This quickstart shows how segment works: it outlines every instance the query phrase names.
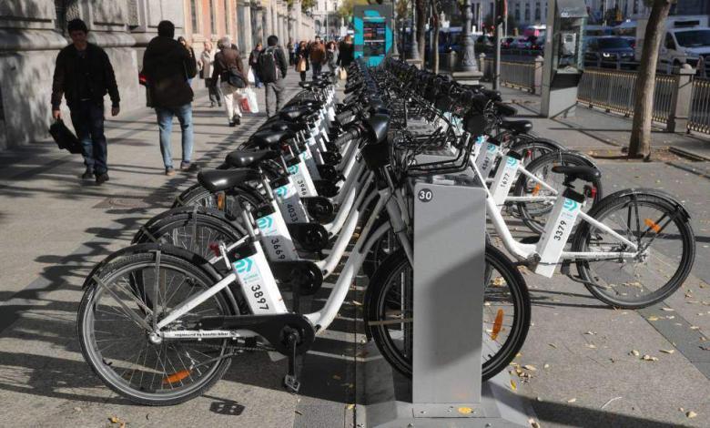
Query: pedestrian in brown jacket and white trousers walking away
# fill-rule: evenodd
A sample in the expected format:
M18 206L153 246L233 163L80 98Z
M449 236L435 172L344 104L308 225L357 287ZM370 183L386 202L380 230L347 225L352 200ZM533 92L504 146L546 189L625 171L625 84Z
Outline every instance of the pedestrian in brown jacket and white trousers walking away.
M241 123L239 102L242 89L247 87L247 73L244 71L237 46L232 45L228 36L220 38L217 46L220 50L215 56L212 79L215 82L219 79L228 123L230 127L235 127Z

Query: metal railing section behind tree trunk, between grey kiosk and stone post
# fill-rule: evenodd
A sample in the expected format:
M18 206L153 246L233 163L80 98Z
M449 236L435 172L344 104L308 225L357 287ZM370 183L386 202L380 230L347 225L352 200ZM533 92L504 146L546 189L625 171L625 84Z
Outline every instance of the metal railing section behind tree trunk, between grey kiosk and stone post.
M587 68L579 84L577 99L592 107L602 107L625 116L634 114L634 71ZM654 120L668 122L673 109L676 76L655 76Z

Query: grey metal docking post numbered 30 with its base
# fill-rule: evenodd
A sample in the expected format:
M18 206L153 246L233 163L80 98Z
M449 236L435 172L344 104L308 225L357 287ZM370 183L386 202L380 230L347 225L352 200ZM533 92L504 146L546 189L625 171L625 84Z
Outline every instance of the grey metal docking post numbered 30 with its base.
M529 426L527 406L512 392L507 371L482 382L486 225L482 184L460 173L411 179L410 191L411 299L416 312L412 379L391 370L378 358L373 343L364 345L366 352L361 353L367 357L358 369L358 384L364 385L358 403L364 405L358 406L358 426Z

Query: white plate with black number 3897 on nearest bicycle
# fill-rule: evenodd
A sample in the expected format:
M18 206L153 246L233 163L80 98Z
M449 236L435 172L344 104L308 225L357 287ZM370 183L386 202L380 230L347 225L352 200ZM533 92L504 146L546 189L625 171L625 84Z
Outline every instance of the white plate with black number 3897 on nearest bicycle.
M286 305L269 268L269 261L259 242L255 242L254 246L257 249L254 254L234 262L234 270L237 271L249 308L255 315L286 312Z

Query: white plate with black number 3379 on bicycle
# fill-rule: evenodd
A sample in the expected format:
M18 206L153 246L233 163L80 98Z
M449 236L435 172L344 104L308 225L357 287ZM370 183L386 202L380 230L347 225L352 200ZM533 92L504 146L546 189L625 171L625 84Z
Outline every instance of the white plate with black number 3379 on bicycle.
M567 192L565 191L565 194ZM535 273L551 278L560 256L564 250L564 244L570 237L574 221L577 219L582 202L574 199L559 196L554 201L553 211L547 218L547 224L543 231L543 236L537 244L537 252L540 254L540 262L535 267Z

